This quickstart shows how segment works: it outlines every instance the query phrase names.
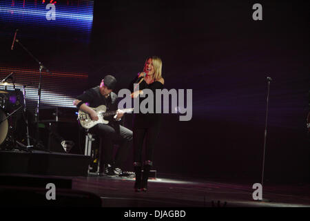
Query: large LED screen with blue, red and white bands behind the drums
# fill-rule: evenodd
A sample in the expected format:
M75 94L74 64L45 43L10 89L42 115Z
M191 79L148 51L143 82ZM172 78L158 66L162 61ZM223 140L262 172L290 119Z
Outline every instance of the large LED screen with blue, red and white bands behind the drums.
M0 79L14 71L15 83L27 86L26 104L31 113L37 106L39 64L23 47L50 70L50 73L42 71L41 106L74 108L74 97L81 93L81 88L87 87L92 22L79 18L85 16L85 11L92 17L93 1L58 1L55 7L59 14L55 21L45 19L48 3L50 1L0 1L0 8L4 9L0 13ZM6 12L11 7L12 12ZM32 15L34 12L36 16ZM63 14L74 15L75 19L63 19ZM23 47L15 42L11 50L16 30L16 38Z

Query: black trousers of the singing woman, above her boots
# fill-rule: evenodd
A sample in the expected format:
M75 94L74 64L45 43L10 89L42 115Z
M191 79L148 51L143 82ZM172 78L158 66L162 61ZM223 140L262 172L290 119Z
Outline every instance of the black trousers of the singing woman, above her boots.
M153 151L156 145L160 125L149 128L134 128L134 162L142 163L143 141L145 139L145 160L153 161Z

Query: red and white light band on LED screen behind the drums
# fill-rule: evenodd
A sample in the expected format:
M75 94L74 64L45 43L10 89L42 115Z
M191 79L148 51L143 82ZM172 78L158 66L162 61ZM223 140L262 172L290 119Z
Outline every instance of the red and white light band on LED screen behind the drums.
M4 73L14 71L15 88L23 91L25 87L25 99L28 108L34 110L38 100L39 71L33 68L14 68L0 66L0 77L4 78ZM83 91L76 91L71 88L85 88L88 75L86 73L62 73L53 72L52 75L43 73L41 81L41 106L62 106L74 108L73 101L77 95ZM0 90L14 90L12 83L10 85L0 86ZM13 100L12 100L13 102Z

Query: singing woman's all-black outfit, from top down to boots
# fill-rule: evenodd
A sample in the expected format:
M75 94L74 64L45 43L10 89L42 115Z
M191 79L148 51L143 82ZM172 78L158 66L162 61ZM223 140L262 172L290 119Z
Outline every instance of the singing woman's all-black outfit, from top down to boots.
M134 88L134 83L138 83L142 77L136 77L131 84L131 90ZM147 180L149 171L153 164L153 150L156 145L156 140L161 126L161 114L156 113L156 89L163 89L163 84L159 81L154 81L147 84L145 80L139 84L139 90L150 89L154 94L154 113L134 113L133 119L133 135L134 135L134 171L136 173L136 183L134 188L136 191L147 189ZM133 91L133 90L132 90ZM140 104L147 97L139 97ZM136 98L138 99L138 98ZM140 106L139 104L139 106ZM139 111L141 112L141 111ZM145 161L142 164L143 141L145 140ZM141 170L143 166L143 174Z

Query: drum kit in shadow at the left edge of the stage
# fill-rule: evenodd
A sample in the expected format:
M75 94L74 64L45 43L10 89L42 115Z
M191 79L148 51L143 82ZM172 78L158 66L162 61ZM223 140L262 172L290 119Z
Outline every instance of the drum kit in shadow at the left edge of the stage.
M4 90L3 90L4 86ZM14 88L13 90L7 90L8 86ZM20 89L16 89L15 86L23 88L23 93ZM63 146L66 153L70 151L70 148L74 146L74 143L68 140L63 140L58 133L54 131L52 124L57 122L76 122L75 110L70 112L65 108L40 108L42 111L41 117L34 120L34 124L46 124L50 127L45 127L49 131L48 146L45 148L43 142L40 140L39 131L37 131L37 137L30 137L27 106L25 101L25 86L23 84L9 83L8 81L0 81L0 150L2 151L28 151L32 152L34 149L40 151L50 152L50 141L52 136L61 140L61 146ZM68 113L66 113L66 111ZM38 113L38 112L36 112ZM66 115L67 114L67 115ZM56 119L52 119L56 117ZM73 118L72 118L73 117ZM32 132L34 128L32 126ZM32 144L30 145L30 139Z

